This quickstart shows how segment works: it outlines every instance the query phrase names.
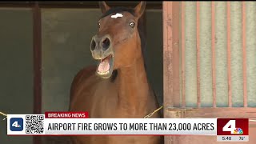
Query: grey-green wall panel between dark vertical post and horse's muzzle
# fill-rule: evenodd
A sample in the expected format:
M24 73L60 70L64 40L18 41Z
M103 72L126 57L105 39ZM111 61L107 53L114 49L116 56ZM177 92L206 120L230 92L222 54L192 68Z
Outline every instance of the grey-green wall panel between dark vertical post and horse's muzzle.
M42 10L42 112L68 110L75 74L96 64L90 40L99 16L99 10Z

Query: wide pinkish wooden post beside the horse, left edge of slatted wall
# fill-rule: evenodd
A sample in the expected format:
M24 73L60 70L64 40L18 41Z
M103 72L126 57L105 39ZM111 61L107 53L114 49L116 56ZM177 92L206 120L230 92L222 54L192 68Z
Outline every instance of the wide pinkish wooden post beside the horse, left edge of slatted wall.
M180 2L164 2L163 6L163 73L164 106L181 106L180 93L180 50L179 50L179 7ZM171 77L170 77L171 75Z

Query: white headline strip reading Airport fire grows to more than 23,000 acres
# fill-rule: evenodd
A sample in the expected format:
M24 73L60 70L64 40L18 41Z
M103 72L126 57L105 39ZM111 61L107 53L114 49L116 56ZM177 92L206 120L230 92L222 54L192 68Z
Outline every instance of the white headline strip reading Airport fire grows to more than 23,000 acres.
M49 115L48 115L49 116ZM216 135L217 118L49 118L8 114L8 135Z

